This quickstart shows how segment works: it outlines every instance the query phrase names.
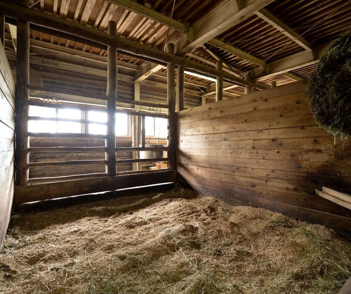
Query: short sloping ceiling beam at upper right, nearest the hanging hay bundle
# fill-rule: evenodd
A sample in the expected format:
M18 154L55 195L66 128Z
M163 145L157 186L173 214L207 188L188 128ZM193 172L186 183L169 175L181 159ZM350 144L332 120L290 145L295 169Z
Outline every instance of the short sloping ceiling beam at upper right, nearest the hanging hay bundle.
M299 44L306 50L312 51L312 45L304 37L301 37L296 31L294 31L290 26L281 21L279 18L275 17L267 9L262 8L259 11L256 11L255 14L272 25L279 32L282 32L285 36L291 38L295 43Z

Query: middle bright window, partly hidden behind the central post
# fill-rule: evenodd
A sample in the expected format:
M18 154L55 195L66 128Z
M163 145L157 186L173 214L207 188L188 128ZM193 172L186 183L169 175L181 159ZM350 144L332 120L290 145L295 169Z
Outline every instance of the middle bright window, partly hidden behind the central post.
M88 119L91 121L105 123L107 122L107 113L104 111L89 111ZM116 136L128 136L129 134L129 116L125 113L116 113ZM107 127L101 124L89 124L90 134L106 135Z

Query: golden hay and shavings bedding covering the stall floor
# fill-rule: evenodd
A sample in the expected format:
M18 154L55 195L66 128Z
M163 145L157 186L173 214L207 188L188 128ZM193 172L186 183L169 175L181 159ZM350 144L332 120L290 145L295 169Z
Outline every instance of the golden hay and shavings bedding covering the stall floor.
M336 293L351 243L176 188L13 217L0 293Z

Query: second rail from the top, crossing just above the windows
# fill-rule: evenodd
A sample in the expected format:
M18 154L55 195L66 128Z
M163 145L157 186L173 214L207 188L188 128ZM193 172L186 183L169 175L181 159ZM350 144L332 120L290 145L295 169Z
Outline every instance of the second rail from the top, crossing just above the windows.
M104 106L95 106L95 105L79 105L79 104L59 104L59 103L47 103L47 102L39 102L29 100L29 105L32 106L41 106L41 107L50 107L50 108L58 108L58 109L77 109L81 111L105 111L106 107ZM155 112L144 112L144 111L134 111L134 110L116 110L116 113L126 113L129 115L138 115L138 116L151 116L151 117L162 117L168 118L167 114L164 113L155 113Z

